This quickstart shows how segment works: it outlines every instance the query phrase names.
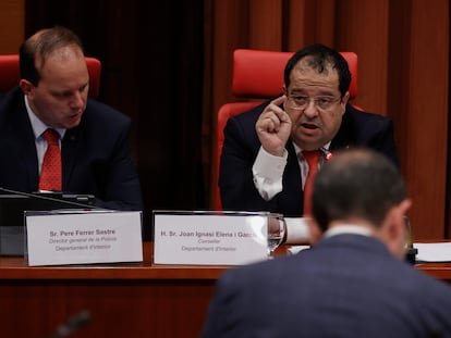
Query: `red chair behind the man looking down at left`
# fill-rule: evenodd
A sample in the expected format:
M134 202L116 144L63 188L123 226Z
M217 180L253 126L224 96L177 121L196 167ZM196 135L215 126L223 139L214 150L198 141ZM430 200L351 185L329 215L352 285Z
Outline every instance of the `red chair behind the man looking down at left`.
M86 58L89 72L89 97L96 99L100 90L101 63L95 58ZM0 93L7 92L19 85L19 54L0 55Z

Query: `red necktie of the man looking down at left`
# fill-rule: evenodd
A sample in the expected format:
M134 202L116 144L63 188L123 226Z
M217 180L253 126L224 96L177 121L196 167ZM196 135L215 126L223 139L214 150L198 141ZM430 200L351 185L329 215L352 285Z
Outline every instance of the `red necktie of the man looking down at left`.
M61 191L60 136L57 130L50 128L42 135L47 140L47 150L40 171L39 190Z

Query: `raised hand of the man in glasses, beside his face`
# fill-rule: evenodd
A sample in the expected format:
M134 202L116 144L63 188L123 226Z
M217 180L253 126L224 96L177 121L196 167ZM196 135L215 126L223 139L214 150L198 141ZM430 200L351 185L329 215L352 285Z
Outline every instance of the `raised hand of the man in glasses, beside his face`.
M261 147L275 157L282 157L285 143L291 133L291 118L279 105L285 102L287 97L281 96L271 101L255 124Z

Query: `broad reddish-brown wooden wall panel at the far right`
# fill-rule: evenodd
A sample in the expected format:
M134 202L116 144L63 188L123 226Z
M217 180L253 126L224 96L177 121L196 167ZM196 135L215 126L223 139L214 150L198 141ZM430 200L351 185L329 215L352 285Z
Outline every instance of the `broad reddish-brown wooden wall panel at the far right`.
M434 5L432 5L434 4ZM414 235L444 235L448 151L449 2L412 1L409 59L407 134L404 174L411 189Z

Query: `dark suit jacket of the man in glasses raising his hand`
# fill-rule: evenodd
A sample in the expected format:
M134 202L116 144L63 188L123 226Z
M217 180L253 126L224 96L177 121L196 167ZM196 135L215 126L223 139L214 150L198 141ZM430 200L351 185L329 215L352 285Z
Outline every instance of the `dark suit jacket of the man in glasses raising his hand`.
M252 166L260 148L255 124L269 103L231 117L224 128L219 187L224 210L271 211L285 216L303 214L301 168L293 143L287 143L288 163L283 173L283 190L265 201L254 186ZM365 146L386 154L398 165L393 124L388 117L366 113L346 105L340 129L329 150Z

